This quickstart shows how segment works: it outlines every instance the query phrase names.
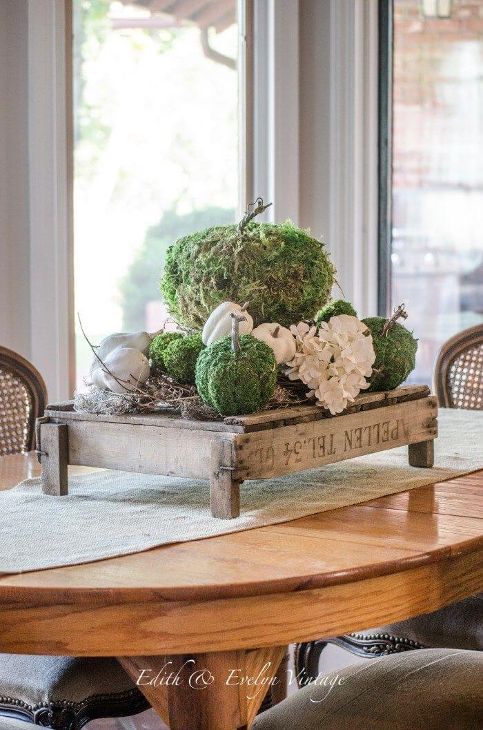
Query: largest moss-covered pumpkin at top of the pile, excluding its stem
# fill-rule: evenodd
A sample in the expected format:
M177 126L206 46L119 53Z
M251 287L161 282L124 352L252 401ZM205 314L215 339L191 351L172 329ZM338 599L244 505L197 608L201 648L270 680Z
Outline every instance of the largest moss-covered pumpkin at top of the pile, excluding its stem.
M331 293L325 246L290 220L217 226L179 239L166 254L161 293L171 315L200 329L222 301L243 304L255 326L313 317Z

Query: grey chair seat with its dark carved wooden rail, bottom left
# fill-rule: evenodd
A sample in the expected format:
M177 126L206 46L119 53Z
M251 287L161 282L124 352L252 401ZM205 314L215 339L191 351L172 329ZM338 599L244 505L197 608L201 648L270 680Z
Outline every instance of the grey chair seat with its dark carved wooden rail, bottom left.
M0 654L0 688L0 715L55 730L150 707L115 658Z

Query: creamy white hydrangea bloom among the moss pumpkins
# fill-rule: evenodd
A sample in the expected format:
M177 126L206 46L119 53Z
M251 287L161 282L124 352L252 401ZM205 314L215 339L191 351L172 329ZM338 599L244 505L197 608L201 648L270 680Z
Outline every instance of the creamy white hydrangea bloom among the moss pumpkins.
M376 353L368 328L357 317L337 315L319 328L299 322L290 331L297 352L285 372L309 387L307 395L317 405L336 415L368 388Z

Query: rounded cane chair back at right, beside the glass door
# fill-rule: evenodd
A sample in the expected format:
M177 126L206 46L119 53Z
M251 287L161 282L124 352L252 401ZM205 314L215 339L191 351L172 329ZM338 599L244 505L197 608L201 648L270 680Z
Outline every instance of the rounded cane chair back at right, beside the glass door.
M444 343L434 366L433 389L441 407L483 410L483 324Z

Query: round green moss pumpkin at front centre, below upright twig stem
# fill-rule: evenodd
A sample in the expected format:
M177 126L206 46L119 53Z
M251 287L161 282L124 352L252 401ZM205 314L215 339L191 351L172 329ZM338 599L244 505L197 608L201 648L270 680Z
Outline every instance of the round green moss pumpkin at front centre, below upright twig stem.
M196 388L204 402L223 415L253 413L271 399L277 385L274 353L251 334L240 337L234 353L231 337L206 347L196 363Z

